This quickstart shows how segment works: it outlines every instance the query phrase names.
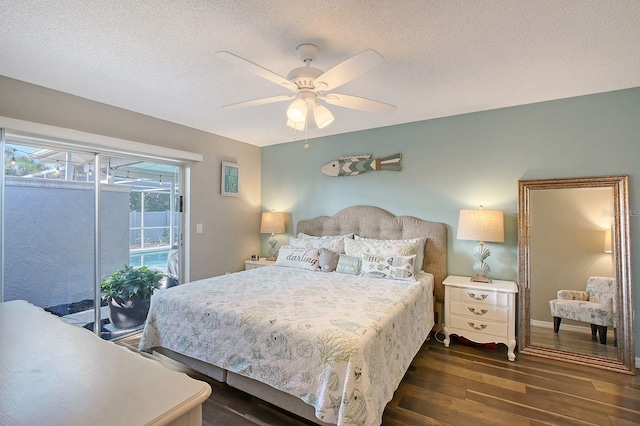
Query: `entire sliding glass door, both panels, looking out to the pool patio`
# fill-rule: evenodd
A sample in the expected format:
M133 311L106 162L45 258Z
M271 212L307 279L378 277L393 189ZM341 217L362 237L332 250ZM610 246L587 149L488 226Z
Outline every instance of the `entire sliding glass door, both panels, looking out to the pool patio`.
M140 329L112 324L100 281L147 266L162 286L179 282L181 167L11 134L3 153L2 301L107 339Z

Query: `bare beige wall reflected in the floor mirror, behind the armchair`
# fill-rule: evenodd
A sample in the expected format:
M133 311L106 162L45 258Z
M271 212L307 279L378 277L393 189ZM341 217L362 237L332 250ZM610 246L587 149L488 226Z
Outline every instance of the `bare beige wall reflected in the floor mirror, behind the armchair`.
M614 275L612 255L604 253L613 194L611 188L580 188L530 196L531 319L551 322L549 300L558 290L584 290L590 276Z

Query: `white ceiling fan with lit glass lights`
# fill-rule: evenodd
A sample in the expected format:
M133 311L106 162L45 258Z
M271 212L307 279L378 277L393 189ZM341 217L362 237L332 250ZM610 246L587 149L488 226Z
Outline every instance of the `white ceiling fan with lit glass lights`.
M371 49L365 50L327 71L322 71L311 66L311 63L318 58L320 53L320 49L316 45L301 44L296 48L296 51L298 57L304 61L305 66L294 68L287 74L286 78L233 53L226 51L216 52L215 55L217 57L272 83L285 87L292 92L291 95L255 99L226 105L223 108L235 109L292 101L287 109L287 125L296 130L304 130L305 127L313 124L322 129L333 122L334 117L331 111L318 101L367 112L388 113L395 111L396 107L394 105L384 102L340 93L326 93L378 66L384 59L377 52Z

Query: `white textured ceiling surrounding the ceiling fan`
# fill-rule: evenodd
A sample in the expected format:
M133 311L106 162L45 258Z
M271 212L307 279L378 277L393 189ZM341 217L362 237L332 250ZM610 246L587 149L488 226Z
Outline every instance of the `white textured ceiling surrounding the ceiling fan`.
M288 103L221 106L289 92L216 51L283 76L301 43L322 70L380 53L338 92L397 110L329 105L309 138L640 86L637 0L0 0L0 17L0 75L258 146L294 140Z

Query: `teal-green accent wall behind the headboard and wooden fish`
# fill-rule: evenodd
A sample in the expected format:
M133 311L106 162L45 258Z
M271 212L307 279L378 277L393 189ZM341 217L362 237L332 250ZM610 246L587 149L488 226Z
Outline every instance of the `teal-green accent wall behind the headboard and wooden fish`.
M321 137L309 144L308 149L304 140L262 149L262 209L289 213L281 243L301 219L374 205L446 223L448 271L471 275L475 243L456 240L458 214L482 204L505 213L505 243L487 243L489 276L516 280L519 179L627 174L632 256L640 254L640 237L634 238L640 230L640 88ZM403 157L401 172L320 173L340 156L397 152ZM633 262L632 278L638 311L640 262ZM635 346L638 355L638 317Z

